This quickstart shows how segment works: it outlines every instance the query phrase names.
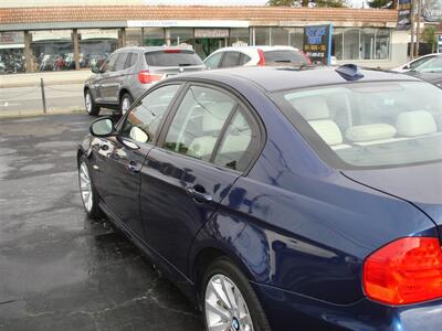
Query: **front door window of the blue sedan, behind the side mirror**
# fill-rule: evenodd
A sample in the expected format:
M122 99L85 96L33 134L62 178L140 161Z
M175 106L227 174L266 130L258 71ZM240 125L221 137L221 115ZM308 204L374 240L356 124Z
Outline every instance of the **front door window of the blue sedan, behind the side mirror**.
M138 142L152 142L179 87L180 85L166 85L146 95L128 114L122 136Z

